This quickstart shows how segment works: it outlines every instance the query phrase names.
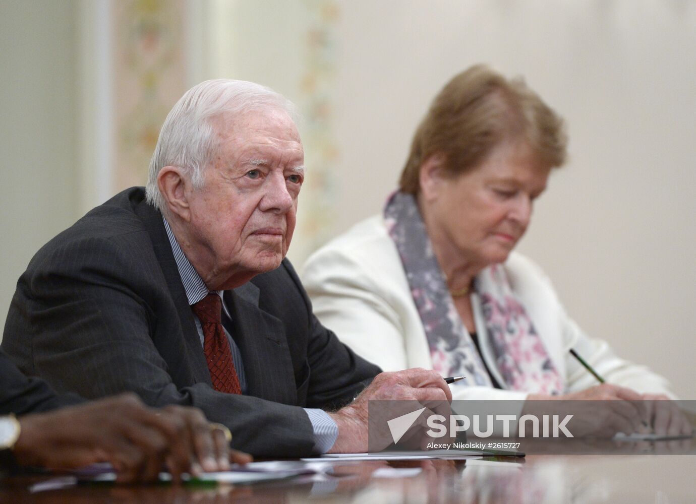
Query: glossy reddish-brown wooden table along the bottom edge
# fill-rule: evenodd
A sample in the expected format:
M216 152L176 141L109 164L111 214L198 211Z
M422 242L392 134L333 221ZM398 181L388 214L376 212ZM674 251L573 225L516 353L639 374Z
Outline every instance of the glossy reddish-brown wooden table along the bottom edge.
M421 470L409 478L374 477L385 467ZM88 485L30 493L30 485L46 479L3 480L0 503L694 503L696 455L529 455L521 463L345 462L335 467L334 476L319 481L303 477L236 487Z

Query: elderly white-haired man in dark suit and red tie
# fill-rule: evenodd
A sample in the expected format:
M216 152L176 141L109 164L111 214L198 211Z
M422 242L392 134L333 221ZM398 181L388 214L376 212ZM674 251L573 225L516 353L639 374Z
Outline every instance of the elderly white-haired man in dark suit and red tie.
M253 455L366 450L367 400L451 393L433 371L378 374L315 318L284 259L304 177L285 98L200 83L166 118L147 188L33 257L2 348L58 391L199 407Z

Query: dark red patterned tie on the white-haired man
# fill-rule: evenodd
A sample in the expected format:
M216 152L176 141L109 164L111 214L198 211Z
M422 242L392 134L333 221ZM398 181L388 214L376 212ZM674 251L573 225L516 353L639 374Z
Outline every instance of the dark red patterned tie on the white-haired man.
M220 296L209 293L191 306L203 327L203 353L208 363L210 380L215 390L227 393L242 393L227 334L222 327L222 301Z

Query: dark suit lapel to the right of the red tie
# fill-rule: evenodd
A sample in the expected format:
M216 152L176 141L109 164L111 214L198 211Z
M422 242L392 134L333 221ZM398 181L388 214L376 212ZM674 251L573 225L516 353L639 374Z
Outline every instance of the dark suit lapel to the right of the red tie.
M247 395L297 404L297 389L283 323L258 307L258 287L247 283L226 291L232 338L242 352Z

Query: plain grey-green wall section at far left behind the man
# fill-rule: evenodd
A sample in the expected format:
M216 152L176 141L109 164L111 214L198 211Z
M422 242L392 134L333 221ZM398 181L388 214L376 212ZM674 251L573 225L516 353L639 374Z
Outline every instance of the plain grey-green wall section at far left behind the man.
M77 218L76 3L0 2L0 324L17 278ZM0 336L1 337L1 336Z

